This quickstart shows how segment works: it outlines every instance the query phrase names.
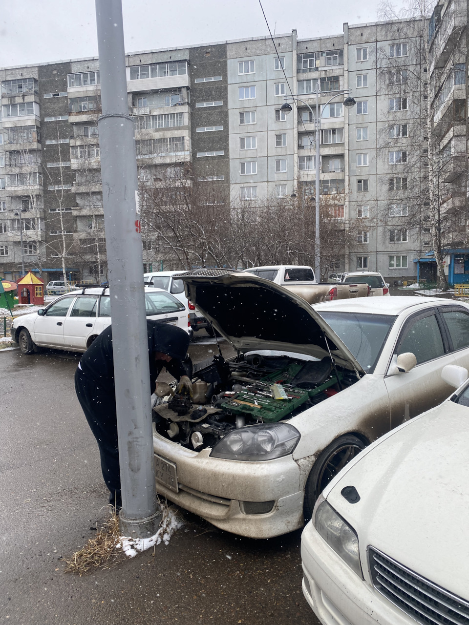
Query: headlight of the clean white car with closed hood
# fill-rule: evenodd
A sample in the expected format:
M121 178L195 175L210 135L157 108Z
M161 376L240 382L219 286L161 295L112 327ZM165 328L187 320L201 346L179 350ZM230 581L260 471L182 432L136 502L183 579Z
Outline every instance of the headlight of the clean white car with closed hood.
M337 514L327 501L323 501L316 509L314 524L327 544L363 579L358 552L358 536L355 530Z

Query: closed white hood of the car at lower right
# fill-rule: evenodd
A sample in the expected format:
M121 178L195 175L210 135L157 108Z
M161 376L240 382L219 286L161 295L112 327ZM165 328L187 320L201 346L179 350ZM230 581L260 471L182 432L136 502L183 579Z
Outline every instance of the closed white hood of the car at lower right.
M368 546L469 600L469 407L446 401L358 456L325 495ZM341 495L355 486L361 499ZM329 490L330 489L330 490Z

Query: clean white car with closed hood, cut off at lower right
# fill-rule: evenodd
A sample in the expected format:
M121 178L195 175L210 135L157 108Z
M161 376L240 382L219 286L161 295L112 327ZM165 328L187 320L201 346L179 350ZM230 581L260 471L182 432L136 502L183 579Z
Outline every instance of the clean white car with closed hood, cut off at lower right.
M468 377L442 374L455 387ZM326 487L301 537L303 593L321 623L469 622L468 448L465 383Z

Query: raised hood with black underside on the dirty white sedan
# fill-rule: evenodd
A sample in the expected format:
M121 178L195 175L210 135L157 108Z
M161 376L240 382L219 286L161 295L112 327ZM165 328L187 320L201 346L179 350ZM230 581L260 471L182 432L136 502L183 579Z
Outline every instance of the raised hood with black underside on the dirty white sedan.
M365 374L348 347L308 302L274 282L250 273L198 269L178 275L186 296L233 347L296 352Z

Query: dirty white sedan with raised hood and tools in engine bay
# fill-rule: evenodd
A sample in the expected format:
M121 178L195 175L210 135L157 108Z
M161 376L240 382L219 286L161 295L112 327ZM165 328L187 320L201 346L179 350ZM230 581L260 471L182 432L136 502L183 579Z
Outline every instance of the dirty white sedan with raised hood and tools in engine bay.
M237 355L194 366L187 416L155 407L156 486L235 534L302 527L346 462L448 396L446 364L469 367L467 304L363 297L311 307L246 273L183 280Z

